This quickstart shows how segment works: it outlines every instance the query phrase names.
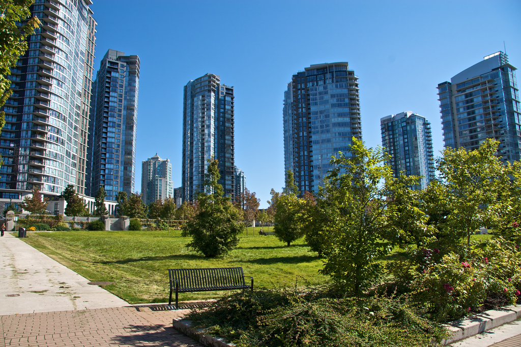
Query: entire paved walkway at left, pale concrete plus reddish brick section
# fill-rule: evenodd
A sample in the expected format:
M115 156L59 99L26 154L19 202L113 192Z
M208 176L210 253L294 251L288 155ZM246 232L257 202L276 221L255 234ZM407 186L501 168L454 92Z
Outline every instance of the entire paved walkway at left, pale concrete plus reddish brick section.
M88 282L5 233L0 237L0 347L202 347L172 328L172 319L189 309L129 305Z

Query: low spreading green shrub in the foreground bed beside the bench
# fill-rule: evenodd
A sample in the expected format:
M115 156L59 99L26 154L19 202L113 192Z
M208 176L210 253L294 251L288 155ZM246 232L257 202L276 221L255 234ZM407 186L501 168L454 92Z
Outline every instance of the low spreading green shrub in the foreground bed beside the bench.
M237 346L426 346L444 330L405 297L342 298L325 291L225 296L187 318Z

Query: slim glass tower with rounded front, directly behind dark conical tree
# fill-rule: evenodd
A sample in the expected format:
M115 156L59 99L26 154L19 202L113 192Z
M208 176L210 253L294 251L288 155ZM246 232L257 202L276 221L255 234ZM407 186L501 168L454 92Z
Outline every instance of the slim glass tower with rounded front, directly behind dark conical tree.
M219 161L219 184L234 194L233 87L206 74L187 83L183 95L182 199L204 192L207 159Z

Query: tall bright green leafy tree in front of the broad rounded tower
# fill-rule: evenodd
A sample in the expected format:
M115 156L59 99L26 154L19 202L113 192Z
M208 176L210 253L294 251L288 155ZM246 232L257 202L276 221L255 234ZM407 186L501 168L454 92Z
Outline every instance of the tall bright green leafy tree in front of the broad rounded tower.
M316 205L306 219L306 239L325 257L321 273L331 276L351 293L359 294L380 274L378 259L389 254L389 235L400 232L401 213L394 199L418 182L419 177L394 178L383 165L381 148L367 149L353 138L351 157L342 152L319 188ZM425 223L425 218L412 221Z

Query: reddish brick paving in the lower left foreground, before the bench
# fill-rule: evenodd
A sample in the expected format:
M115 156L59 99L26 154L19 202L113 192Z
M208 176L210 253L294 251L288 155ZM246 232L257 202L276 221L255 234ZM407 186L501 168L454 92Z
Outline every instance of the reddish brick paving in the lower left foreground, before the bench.
M202 347L172 328L172 319L183 311L150 305L0 316L0 347Z

